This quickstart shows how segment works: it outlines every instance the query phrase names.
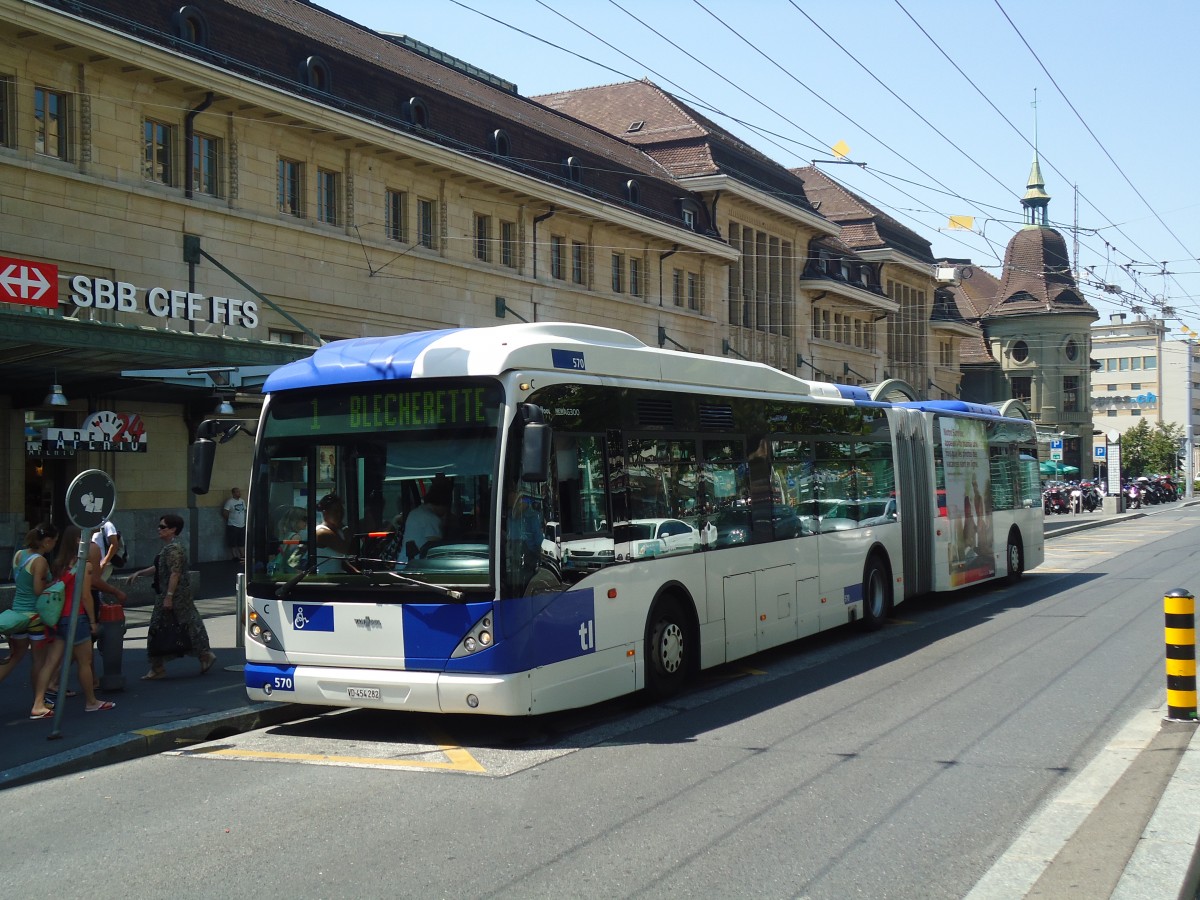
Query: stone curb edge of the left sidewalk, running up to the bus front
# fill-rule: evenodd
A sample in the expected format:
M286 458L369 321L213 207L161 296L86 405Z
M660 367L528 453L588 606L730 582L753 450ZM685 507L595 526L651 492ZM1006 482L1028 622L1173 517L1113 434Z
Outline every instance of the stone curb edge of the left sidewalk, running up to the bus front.
M254 728L282 725L294 719L317 715L324 709L326 707L299 703L259 703L127 731L0 772L0 790L154 756L175 750L181 744L199 744Z

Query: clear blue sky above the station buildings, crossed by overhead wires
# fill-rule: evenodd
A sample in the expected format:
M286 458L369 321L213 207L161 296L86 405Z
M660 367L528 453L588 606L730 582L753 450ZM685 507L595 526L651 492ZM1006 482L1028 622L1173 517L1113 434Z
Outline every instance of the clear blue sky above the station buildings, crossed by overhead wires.
M845 142L866 167L826 172L936 256L970 257L997 276L1021 221L1036 92L1050 218L1073 252L1078 222L1088 300L1105 318L1165 304L1176 329L1200 331L1192 0L319 5L515 82L524 96L649 78L784 166L832 158L828 148ZM952 215L973 216L973 230L949 229ZM1118 286L1123 302L1091 281Z

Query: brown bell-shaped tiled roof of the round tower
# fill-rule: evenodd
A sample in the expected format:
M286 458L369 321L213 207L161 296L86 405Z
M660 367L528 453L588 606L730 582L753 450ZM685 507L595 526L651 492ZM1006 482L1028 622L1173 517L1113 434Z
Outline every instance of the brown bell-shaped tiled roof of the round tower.
M1070 274L1067 242L1054 228L1026 226L1004 251L1004 276L986 314L1099 313L1082 298Z

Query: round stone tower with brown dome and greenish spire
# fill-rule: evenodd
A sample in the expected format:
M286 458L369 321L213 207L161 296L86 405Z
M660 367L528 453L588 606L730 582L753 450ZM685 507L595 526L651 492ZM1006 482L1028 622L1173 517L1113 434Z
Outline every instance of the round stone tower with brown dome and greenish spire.
M1049 205L1034 151L1021 198L1025 224L1008 242L1000 289L980 325L1000 362L1003 398L1025 401L1039 434L1062 439L1063 466L1091 474L1091 324L1099 313L1079 293L1067 241L1048 224ZM1048 460L1049 445L1042 451Z

